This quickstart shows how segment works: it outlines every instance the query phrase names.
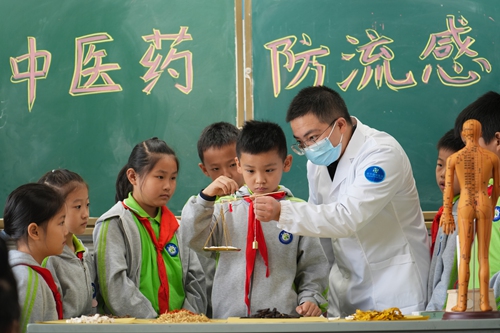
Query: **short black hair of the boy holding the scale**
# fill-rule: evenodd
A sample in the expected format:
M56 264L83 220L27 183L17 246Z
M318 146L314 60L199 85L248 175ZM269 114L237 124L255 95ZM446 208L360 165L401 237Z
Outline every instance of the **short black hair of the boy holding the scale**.
M268 121L250 120L245 122L236 142L236 155L242 153L257 155L276 150L283 159L287 156L286 137L283 129Z

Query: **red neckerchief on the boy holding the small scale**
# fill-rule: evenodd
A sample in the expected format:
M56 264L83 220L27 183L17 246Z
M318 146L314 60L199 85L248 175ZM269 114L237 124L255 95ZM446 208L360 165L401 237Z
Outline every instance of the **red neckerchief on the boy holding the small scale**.
M270 197L275 198L276 200L283 199L285 197L285 192L270 194ZM245 276L245 304L247 305L248 314L250 314L250 298L248 294L250 292L250 278L253 274L253 269L255 266L255 258L257 256L257 249L253 248L254 238L258 244L258 250L262 259L264 260L264 264L267 267L266 277L269 276L269 261L267 256L267 246L266 239L264 238L264 232L262 231L262 226L260 225L260 221L255 218L255 212L253 210L253 200L249 197L244 198L245 201L250 203L250 207L248 207L248 232L247 232L247 247L246 247L246 259L247 259L247 269ZM255 231L255 233L254 233Z

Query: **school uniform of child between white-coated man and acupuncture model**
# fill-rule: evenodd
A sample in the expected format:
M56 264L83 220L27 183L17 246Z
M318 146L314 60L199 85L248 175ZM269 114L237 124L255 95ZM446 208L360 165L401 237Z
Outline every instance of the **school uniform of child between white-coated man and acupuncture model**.
M450 235L438 229L434 252L432 254L427 284L427 311L442 311L446 307L448 289L456 289L458 279L457 269L457 207L458 198L453 203L453 219L455 230Z

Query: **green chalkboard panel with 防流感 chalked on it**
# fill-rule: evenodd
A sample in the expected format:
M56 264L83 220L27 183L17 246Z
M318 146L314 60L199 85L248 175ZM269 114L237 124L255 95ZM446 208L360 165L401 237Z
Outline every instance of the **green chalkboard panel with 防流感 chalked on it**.
M292 143L284 121L292 98L305 86L336 89L352 115L401 143L422 208L436 210L438 139L465 106L500 92L498 4L252 0L255 119L283 125ZM305 174L295 155L283 184L306 199Z

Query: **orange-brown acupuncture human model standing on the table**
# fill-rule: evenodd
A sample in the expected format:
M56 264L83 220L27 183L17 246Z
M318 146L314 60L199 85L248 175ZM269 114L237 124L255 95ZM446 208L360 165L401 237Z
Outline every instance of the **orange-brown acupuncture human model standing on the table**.
M463 312L467 308L467 289L470 277L470 254L474 229L478 238L479 292L481 311L491 311L488 299L491 224L495 204L499 195L499 159L497 155L479 146L481 123L475 119L467 120L462 126L462 139L465 147L448 158L446 183L443 193L443 215L440 226L446 234L455 230L452 215L453 179L460 184L460 200L457 207L457 225L460 247L458 271L458 301L452 311ZM488 184L493 178L491 196ZM474 228L475 222L475 228Z

